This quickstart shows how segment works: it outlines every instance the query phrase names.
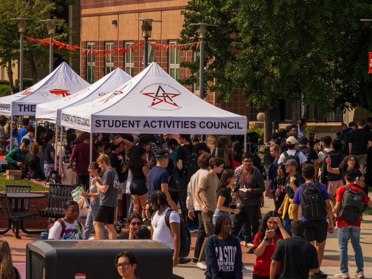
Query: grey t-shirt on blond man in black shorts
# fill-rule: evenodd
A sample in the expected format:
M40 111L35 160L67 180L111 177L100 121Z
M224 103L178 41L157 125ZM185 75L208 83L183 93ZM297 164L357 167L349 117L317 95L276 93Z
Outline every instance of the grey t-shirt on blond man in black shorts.
M107 192L103 194L101 192L99 197L99 204L105 205L108 207L117 207L118 206L118 189L119 189L119 177L118 173L109 168L105 171L103 175L102 185L109 185Z

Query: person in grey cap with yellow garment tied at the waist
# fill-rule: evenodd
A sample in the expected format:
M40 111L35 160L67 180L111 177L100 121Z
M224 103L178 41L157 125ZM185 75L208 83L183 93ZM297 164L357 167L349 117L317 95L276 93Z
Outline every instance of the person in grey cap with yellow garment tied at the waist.
M297 188L301 184L305 183L305 179L302 177L301 173L298 173L296 170L298 166L298 163L296 160L294 159L286 160L286 162L284 162L283 165L285 166L286 173L288 173L289 175L287 176L285 183L284 183L286 194L284 196L282 205L280 205L278 209L278 213L282 214L283 227L285 228L287 233L290 236L292 236L291 222L293 220L293 216L292 216L293 198L295 196L295 192Z

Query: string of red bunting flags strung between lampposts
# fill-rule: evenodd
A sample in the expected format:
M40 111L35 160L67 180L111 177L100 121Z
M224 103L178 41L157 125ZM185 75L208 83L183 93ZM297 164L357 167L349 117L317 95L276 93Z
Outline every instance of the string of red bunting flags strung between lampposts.
M128 53L129 51L134 53L138 49L139 46L143 46L145 43L148 43L154 51L155 50L156 51L160 51L160 50L168 51L168 49L170 49L170 51L173 50L173 51L177 51L177 52L188 51L193 46L196 46L196 50L197 50L199 48L199 43L200 43L200 42L196 42L196 43L183 43L183 44L180 44L180 45L163 45L163 44L160 44L160 43L153 43L153 42L141 42L141 43L137 43L135 45L126 46L124 48L114 48L114 49L110 49L110 50L107 50L107 49L102 50L102 49L80 48L77 45L71 46L71 45L68 45L66 43L59 42L59 41L57 41L53 38L34 39L34 38L27 37L25 35L23 35L23 37L28 39L30 42L42 43L45 46L56 45L56 46L58 46L58 49L66 48L70 51L74 50L74 49L80 49L81 52L86 54L86 56L97 56L97 57L105 57L108 54L116 54L116 53L123 53L123 52Z

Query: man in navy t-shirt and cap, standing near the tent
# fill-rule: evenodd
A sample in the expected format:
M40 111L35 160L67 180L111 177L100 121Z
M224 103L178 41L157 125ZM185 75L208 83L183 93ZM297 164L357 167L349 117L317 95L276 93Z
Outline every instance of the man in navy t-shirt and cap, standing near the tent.
M163 191L167 196L167 201L173 210L177 210L177 206L172 201L168 191L169 173L164 169L168 166L169 153L166 150L158 150L155 152L156 166L150 169L147 173L148 194L147 200L150 195L157 191Z

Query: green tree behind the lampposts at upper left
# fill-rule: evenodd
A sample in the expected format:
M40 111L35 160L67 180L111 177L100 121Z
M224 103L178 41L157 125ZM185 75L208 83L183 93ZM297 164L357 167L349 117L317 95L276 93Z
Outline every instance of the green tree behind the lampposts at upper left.
M59 1L50 3L42 0L4 0L0 6L0 65L7 68L9 85L13 89L13 72L11 65L19 59L19 32L17 21L12 18L25 17L33 20L27 21L25 36L44 39L48 38L47 23L39 20L50 17L62 9L62 4L70 4L71 1ZM68 42L71 35L70 28L65 22L57 22L57 31L54 38L62 42ZM65 60L73 58L76 53L66 49L54 48L54 53L62 56ZM30 43L25 39L23 49L24 66L31 70L33 82L37 82L37 69L40 66L47 68L49 64L49 49L43 44Z

